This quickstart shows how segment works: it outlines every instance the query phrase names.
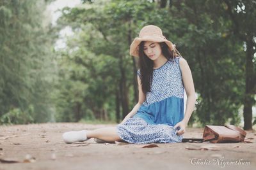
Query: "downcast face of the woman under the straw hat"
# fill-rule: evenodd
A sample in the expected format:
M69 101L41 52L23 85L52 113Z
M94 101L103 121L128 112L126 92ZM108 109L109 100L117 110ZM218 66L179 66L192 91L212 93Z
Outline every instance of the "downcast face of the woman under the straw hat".
M154 41L145 41L143 51L150 60L156 60L162 54L160 44Z

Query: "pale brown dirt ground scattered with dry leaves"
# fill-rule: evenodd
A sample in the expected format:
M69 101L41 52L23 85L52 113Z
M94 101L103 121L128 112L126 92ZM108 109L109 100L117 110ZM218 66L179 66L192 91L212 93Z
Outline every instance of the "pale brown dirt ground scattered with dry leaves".
M93 139L65 144L61 138L65 131L111 126L115 125L0 126L0 169L256 169L253 131L247 131L247 143L157 143L152 148ZM184 138L202 138L204 129L186 130Z

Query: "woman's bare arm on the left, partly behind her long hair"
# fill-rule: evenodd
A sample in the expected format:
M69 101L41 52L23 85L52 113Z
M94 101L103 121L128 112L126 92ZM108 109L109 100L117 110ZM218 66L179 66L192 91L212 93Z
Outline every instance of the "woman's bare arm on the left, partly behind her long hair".
M141 104L143 104L143 102L146 99L146 97L145 97L145 95L144 95L144 93L142 91L142 88L141 88L141 81L140 81L140 77L139 76L138 76L137 80L138 80L138 90L139 90L139 101L134 106L132 111L130 113L128 113L128 115L124 118L124 120L121 122L121 124L123 124L128 118L133 117L133 115L135 115L135 113L137 113L137 111L139 110Z

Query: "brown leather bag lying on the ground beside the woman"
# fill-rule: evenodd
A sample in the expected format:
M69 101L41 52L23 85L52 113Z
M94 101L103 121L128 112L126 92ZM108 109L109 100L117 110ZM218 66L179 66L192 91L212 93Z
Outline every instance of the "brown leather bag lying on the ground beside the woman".
M246 132L234 125L205 125L204 141L211 143L237 143L244 141Z

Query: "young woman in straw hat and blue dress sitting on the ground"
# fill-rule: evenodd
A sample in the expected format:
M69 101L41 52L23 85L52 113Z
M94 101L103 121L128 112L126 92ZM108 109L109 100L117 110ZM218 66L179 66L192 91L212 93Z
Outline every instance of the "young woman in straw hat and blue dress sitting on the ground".
M65 132L65 143L90 138L128 143L181 142L196 101L188 63L155 25L141 29L132 41L130 54L139 57L138 103L116 127ZM188 96L185 114L184 89Z

